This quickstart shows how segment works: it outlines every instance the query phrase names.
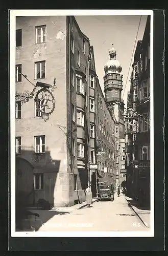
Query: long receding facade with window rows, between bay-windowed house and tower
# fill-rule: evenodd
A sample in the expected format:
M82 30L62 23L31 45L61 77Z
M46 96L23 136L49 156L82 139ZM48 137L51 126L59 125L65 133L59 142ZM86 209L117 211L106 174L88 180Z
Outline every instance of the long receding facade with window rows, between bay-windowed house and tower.
M96 78L97 96L97 163L98 177L111 177L116 183L116 119L110 112L100 87L99 79Z

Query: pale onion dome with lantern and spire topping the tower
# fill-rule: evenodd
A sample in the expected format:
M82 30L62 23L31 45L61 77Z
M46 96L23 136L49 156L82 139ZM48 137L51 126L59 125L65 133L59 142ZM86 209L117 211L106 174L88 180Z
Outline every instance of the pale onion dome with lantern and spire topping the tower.
M113 46L113 44L112 44ZM116 59L116 50L112 47L109 51L110 59L107 61L104 71L105 73L121 73L122 67Z

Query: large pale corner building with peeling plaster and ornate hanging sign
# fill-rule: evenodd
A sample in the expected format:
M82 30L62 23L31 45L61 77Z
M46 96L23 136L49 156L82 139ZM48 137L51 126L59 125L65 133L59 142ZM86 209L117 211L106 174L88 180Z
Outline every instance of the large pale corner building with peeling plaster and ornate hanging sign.
M16 195L29 195L29 204L41 198L54 206L85 201L92 115L89 52L89 40L73 16L16 18L16 94L32 90L21 73L33 84L52 85L56 79L57 87L47 122L34 99L25 104L16 99Z

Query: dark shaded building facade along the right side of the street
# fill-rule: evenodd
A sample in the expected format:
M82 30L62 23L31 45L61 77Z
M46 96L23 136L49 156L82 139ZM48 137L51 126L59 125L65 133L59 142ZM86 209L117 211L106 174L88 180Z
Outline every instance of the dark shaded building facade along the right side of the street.
M127 191L141 205L150 205L150 16L138 40L132 65L127 111Z

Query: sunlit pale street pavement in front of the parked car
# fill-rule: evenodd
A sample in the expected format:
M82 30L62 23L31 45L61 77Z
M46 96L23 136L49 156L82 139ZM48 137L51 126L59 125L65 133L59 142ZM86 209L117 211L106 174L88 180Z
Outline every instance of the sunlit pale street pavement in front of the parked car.
M66 210L66 209L65 209ZM121 194L114 201L94 202L66 214L55 214L37 231L149 231Z

